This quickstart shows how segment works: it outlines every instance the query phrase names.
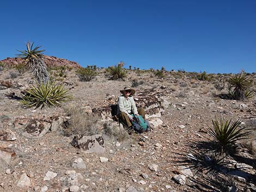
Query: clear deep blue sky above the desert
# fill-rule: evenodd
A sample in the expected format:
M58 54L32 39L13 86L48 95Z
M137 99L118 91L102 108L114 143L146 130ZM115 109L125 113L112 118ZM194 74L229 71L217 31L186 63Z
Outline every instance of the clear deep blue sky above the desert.
M82 66L256 71L255 0L1 1L0 60L26 42Z

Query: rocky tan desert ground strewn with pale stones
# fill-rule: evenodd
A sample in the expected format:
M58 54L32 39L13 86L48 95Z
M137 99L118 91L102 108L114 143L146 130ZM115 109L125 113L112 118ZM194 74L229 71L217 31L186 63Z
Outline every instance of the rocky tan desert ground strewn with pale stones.
M223 99L230 75L204 81L192 78L193 73L166 72L157 78L151 71L131 70L117 81L108 80L104 71L90 82L81 82L75 70L66 70L65 77L51 71L74 99L42 110L25 108L19 100L22 90L34 84L31 73L0 71L0 191L256 191L255 132L220 162L204 151L211 145L206 128L215 116L256 126L255 96ZM255 94L256 76L251 77ZM127 137L109 107L119 90L135 84L137 106L145 108L152 124L150 132L139 135L141 142ZM92 151L72 146L75 135L63 131L72 106L81 108L88 121L97 117L91 130L97 135L84 138L95 142Z

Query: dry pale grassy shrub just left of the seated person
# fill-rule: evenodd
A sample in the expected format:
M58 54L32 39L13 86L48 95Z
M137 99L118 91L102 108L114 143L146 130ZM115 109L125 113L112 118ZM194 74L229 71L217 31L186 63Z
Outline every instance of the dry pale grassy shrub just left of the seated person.
M63 133L70 135L95 135L99 133L96 126L99 116L96 114L88 114L84 108L77 105L68 105L64 108L64 112L69 116L69 119L64 123Z

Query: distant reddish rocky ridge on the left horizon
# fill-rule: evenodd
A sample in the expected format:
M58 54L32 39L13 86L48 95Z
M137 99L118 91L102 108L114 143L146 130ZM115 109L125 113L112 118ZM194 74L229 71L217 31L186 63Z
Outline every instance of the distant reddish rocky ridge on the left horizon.
M67 59L60 59L57 57L47 56L47 55L44 55L44 61L47 66L68 66L68 67L73 67L73 68L81 67L81 65L79 65L75 61L70 61ZM17 58L17 57L15 57L15 58L8 57L4 60L1 60L0 62L6 64L8 66L13 66L13 65L21 64L23 62L23 60L21 58Z

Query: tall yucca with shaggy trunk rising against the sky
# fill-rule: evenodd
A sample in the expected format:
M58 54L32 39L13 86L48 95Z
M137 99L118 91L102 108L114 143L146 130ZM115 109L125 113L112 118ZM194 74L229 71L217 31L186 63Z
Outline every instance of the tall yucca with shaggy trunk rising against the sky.
M41 46L36 46L33 48L34 43L27 42L27 49L24 51L19 51L18 57L25 60L26 65L32 71L38 84L47 83L49 79L49 74L46 69L44 58L42 57L42 52L45 50L39 50Z

